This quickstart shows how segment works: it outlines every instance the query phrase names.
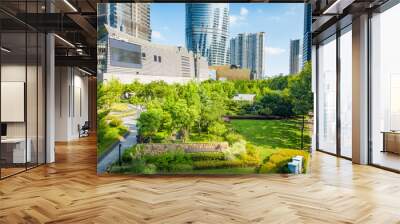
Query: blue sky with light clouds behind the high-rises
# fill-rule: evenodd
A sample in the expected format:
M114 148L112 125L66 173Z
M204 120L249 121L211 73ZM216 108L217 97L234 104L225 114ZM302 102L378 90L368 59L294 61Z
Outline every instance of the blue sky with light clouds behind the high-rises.
M303 4L230 3L230 37L266 33L266 75L289 72L289 43L303 37ZM151 4L152 41L185 46L185 4Z

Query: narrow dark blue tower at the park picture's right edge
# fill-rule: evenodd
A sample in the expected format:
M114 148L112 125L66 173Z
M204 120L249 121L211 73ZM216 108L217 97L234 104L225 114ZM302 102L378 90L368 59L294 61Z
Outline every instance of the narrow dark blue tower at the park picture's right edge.
M310 3L304 4L304 37L303 37L303 66L311 61L311 25L312 25L312 6Z

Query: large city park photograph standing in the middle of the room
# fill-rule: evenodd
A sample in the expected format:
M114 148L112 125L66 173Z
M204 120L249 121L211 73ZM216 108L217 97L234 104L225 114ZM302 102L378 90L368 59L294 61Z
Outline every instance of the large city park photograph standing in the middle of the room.
M98 173L307 172L314 103L303 4L98 8Z

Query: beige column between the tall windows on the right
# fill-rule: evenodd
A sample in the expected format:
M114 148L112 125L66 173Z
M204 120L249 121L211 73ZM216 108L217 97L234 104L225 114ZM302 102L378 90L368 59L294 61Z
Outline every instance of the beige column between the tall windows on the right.
M353 162L368 163L368 15L353 19Z

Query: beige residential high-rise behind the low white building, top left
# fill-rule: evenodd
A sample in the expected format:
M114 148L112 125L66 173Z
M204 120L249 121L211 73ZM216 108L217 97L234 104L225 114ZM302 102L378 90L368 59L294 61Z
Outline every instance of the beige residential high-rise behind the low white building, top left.
M98 5L99 26L107 24L121 32L151 41L149 3L108 3Z

